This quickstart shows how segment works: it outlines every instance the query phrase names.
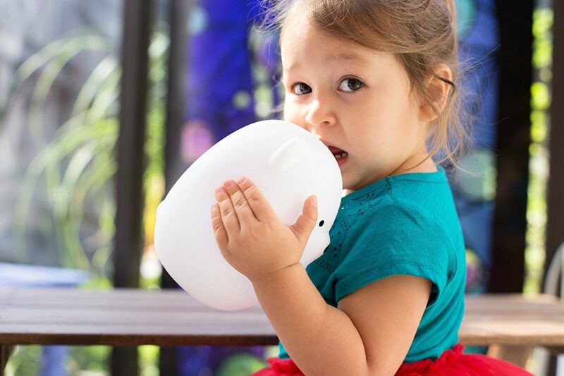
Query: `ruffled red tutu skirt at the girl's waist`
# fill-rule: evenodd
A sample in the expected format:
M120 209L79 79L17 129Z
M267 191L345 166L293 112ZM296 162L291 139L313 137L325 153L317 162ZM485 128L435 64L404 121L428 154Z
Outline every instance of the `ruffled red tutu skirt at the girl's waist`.
M419 360L403 363L396 376L533 376L532 373L513 363L479 354L464 354L460 344L445 351L436 360ZM264 368L251 376L304 376L291 359L269 358L269 368Z

